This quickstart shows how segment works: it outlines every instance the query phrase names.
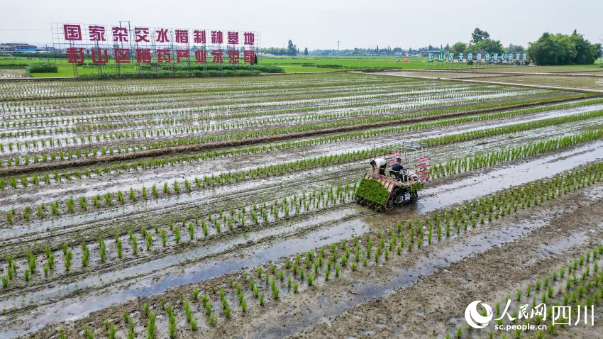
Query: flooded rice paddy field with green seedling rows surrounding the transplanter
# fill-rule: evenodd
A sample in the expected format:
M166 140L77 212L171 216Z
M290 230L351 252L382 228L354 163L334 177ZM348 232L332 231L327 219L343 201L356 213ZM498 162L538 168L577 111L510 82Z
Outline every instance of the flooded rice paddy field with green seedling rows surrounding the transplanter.
M369 160L402 141L431 159L419 199L356 204ZM598 338L602 179L597 92L348 72L4 80L0 337ZM597 318L475 330L475 300Z

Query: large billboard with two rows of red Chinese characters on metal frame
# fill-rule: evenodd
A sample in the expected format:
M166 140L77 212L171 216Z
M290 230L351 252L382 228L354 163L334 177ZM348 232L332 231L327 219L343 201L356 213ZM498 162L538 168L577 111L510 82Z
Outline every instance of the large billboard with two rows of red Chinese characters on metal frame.
M118 25L52 23L55 49L67 62L116 64L150 62L254 63L260 33L248 30L161 28L131 23Z

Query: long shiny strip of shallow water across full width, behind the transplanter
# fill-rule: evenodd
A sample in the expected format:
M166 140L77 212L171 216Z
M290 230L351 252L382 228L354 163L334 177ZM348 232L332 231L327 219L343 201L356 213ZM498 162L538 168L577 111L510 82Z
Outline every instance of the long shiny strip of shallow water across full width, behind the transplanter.
M26 192L21 192L18 196L14 194L6 194L0 196L0 209L10 209L13 204L16 204L18 197L19 203L24 201L36 201L37 203L52 202L57 199L62 200L65 196L71 195L84 195L94 196L95 194L102 194L105 191L115 192L118 189L129 189L129 187L138 188L142 183L152 185L153 183L171 182L175 179L182 181L188 179L190 182L194 180L196 176L220 174L221 172L227 172L229 170L248 170L255 168L258 165L265 163L276 164L284 161L298 160L304 157L316 156L316 155L329 155L338 154L341 152L350 152L355 150L361 150L366 147L374 146L377 144L393 143L400 140L400 135L404 135L404 140L419 140L421 138L429 138L436 135L448 135L460 132L468 132L472 130L482 130L485 128L494 128L499 126L508 126L519 121L536 121L544 118L553 118L558 116L568 116L575 113L585 113L587 111L596 111L602 109L603 105L585 106L575 109L563 109L556 111L548 111L543 113L529 114L521 117L510 118L506 121L494 123L489 122L476 122L467 123L459 126L448 126L443 128L427 128L424 130L409 131L404 133L395 133L392 135L381 135L372 138L363 138L361 140L354 140L353 145L350 142L344 141L341 143L327 143L323 145L316 145L312 148L293 148L284 151L270 152L266 154L258 153L253 157L249 156L236 156L231 158L207 160L204 162L194 162L192 164L177 165L175 167L160 168L155 170L140 170L129 173L121 173L111 175L109 179L107 176L98 177L96 174L92 174L90 179L74 179L72 181L64 180L61 184L40 184L40 186L31 185L28 187ZM591 119L595 121L597 119ZM597 120L598 121L598 120ZM582 125L584 122L577 122L577 125ZM572 124L570 124L572 125ZM563 130L560 130L563 131ZM559 131L557 132L559 133ZM341 148L333 150L333 145L342 145ZM345 147L343 146L345 145ZM95 187L101 187L98 190L90 190L90 184L94 183ZM23 191L23 188L18 190Z

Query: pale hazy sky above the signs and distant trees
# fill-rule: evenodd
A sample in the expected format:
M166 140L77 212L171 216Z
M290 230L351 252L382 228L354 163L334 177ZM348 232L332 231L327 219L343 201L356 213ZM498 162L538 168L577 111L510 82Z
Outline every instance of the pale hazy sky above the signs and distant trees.
M0 43L52 45L50 23L253 30L260 47L419 48L468 43L479 27L527 46L543 32L603 42L603 0L0 0Z

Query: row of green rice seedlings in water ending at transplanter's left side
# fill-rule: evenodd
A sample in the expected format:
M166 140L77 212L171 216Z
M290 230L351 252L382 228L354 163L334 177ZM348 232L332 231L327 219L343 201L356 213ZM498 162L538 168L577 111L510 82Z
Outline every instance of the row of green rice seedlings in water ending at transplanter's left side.
M255 204L250 207L241 206L238 209L231 208L230 211L223 211L222 209L219 209L217 213L209 214L206 218L200 219L199 216L195 216L193 220L187 221L186 219L183 219L181 223L180 221L172 221L169 223L167 230L155 225L154 233L144 227L142 230L140 230L140 234L135 233L135 231L132 229L129 229L129 248L133 256L138 256L138 250L140 248L138 245L138 240L142 238L145 249L149 253L153 252L154 247L157 249L159 248L159 244L155 244L157 242L160 242L161 248L165 249L168 245L168 234L170 234L170 242L178 245L182 239L181 227L187 230L189 235L188 241L201 240L210 236L220 236L222 232L232 232L235 230L235 228L240 228L241 230L250 230L251 227L260 227L265 223L277 222L281 218L299 216L302 215L302 213L309 213L310 211L315 211L316 209L322 209L328 206L333 206L334 204L343 204L345 202L353 201L354 192L355 184L327 187L319 191L312 191L308 193L303 192L299 195L296 193L289 198L285 196L283 199L275 200L271 203L263 202L262 204ZM201 228L201 235L197 235L196 237L195 234L199 233L199 228ZM98 238L97 243L97 247L93 248L92 250L98 252L99 262L95 262L94 265L102 265L106 263L108 259L107 245L103 238ZM91 249L87 243L82 243L81 245L82 252L80 261L82 268L85 268L92 264L90 262ZM109 250L111 253L113 253L112 257L114 259L126 259L123 257L123 241L118 233L115 235L114 242L109 246ZM44 266L45 277L50 278L52 267L54 267L55 255L50 251L49 247L45 248L45 255L48 257L48 269L47 265ZM62 248L62 256L66 272L72 271L72 255L73 253L71 248L67 245L67 243L64 243ZM30 261L30 256L32 257L32 260L35 259L35 257L31 255L31 252L28 252L28 262ZM7 262L9 267L15 268L16 272L17 265L12 256L7 257ZM33 270L30 271L32 274L34 273ZM12 279L13 274L9 275L10 279ZM28 280L29 279L26 279L26 281Z

